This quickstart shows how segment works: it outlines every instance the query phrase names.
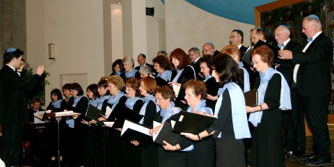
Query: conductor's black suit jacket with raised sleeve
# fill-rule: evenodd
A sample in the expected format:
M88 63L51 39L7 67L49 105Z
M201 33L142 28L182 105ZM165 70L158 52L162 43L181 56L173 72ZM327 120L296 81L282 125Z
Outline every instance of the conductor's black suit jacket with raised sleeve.
M25 83L17 72L8 65L0 70L0 123L9 125L13 123L26 123L29 121L26 94L33 90L42 77L35 74L29 83Z

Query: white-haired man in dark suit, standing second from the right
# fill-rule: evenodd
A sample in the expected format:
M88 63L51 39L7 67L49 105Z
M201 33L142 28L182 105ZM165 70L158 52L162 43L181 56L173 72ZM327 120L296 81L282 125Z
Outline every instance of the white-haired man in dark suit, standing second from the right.
M280 25L276 28L274 36L278 43L278 49L299 51L299 44L290 38L290 31L287 26ZM276 70L281 72L287 81L291 91L292 110L282 111L284 148L287 154L300 157L305 153L306 138L303 122L303 113L299 107L296 88L292 88L292 74L294 73L294 63L292 60L276 59Z

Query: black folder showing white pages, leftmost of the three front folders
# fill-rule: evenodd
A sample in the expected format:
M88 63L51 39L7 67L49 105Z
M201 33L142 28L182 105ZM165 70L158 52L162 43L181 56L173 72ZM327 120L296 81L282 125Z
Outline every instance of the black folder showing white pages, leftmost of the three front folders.
M143 131L148 132L149 130L150 128L141 124L125 120L120 136L127 141L138 141L140 145L148 146L152 143L152 136L144 134Z

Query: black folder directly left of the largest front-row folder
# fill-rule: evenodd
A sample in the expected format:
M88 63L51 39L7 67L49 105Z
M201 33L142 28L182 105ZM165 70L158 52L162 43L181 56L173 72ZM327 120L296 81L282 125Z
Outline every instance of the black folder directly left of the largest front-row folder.
M161 125L161 129L157 134L157 138L154 139L154 143L160 145L165 145L162 141L170 143L170 145L177 145L180 143L182 136L175 132L172 132L172 125L170 122L164 122L164 125Z

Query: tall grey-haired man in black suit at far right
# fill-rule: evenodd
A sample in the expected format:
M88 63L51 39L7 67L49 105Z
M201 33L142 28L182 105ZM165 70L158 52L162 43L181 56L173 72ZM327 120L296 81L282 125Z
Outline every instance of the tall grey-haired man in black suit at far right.
M296 63L293 81L301 102L301 110L313 132L313 155L305 159L311 166L331 164L331 141L327 126L327 108L331 96L331 61L333 43L321 30L316 15L303 19L303 33L308 43L302 51L279 51L280 58Z

